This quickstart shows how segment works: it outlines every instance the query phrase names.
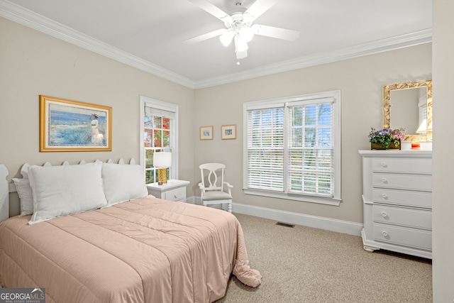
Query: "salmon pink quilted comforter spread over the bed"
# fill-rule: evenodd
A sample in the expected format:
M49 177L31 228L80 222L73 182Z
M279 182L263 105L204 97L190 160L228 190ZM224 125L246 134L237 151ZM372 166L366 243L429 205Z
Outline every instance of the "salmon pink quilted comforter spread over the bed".
M45 288L46 302L213 302L233 273L257 287L235 216L149 196L28 225L0 224L4 287Z

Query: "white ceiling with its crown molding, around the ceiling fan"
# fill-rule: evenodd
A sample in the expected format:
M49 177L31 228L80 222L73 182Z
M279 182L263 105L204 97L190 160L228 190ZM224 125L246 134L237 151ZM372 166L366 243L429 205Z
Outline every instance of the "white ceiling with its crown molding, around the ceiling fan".
M256 35L237 65L233 43L183 42L224 28L187 0L0 0L0 16L192 88L428 43L432 33L431 0L280 0L254 23L299 38Z

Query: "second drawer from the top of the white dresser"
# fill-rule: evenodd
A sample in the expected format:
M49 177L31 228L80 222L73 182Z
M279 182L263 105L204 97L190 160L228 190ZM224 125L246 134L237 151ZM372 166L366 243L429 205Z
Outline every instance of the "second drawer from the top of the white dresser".
M432 190L432 177L427 175L372 174L372 186L430 192Z

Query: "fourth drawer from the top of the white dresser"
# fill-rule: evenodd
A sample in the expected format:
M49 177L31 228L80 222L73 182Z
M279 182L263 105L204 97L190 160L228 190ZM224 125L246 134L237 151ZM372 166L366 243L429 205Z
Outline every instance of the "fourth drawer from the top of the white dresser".
M399 209L396 207L372 206L372 219L375 223L398 224L432 230L432 212L416 209Z

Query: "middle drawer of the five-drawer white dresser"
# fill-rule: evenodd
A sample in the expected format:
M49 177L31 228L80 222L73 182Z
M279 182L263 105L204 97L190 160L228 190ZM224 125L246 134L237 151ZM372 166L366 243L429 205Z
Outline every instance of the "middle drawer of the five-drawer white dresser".
M409 192L393 189L372 189L374 202L387 204L400 204L406 206L418 206L432 208L432 194L430 192Z

